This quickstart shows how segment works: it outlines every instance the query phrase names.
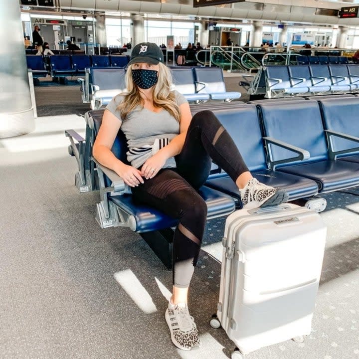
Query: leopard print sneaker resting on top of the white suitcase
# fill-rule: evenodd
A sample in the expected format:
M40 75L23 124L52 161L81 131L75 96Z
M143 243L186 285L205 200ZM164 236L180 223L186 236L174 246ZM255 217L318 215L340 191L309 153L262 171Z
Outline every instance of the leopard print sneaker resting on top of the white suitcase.
M267 207L281 204L288 200L288 193L260 183L252 178L243 189L240 189L243 208Z

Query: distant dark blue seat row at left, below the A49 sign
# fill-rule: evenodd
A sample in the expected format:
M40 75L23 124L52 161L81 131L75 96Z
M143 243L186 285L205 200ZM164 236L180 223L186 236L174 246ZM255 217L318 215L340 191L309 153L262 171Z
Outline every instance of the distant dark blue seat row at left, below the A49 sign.
M26 55L33 78L81 76L87 67L125 67L128 61L125 55Z

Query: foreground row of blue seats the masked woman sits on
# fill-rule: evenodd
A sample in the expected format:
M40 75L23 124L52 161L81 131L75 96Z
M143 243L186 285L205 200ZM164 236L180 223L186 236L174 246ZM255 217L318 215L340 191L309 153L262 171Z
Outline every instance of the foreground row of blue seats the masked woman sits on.
M331 96L316 100L263 100L257 104L200 104L192 114L212 110L233 138L255 178L284 189L289 200L311 198L308 207L321 211L325 200L316 197L359 185L359 98ZM171 267L173 227L177 221L158 210L133 201L131 190L113 171L91 158L103 110L85 115L86 138L67 130L81 192L98 190L96 219L102 228L127 226ZM127 163L127 144L120 131L112 152ZM241 207L240 194L226 173L214 166L199 190L208 218L224 216Z

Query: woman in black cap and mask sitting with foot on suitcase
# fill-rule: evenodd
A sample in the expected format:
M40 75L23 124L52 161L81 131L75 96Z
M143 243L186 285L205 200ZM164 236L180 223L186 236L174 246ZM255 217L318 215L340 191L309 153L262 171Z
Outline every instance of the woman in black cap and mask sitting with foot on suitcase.
M173 241L173 295L165 318L180 349L200 346L187 293L197 262L207 207L197 193L211 159L237 184L244 207L279 204L286 193L259 183L248 171L233 140L211 111L192 118L188 102L171 90L171 72L154 43L136 45L126 73L127 92L115 96L103 116L93 156L131 186L136 200L178 218ZM111 152L119 129L127 138L127 159Z

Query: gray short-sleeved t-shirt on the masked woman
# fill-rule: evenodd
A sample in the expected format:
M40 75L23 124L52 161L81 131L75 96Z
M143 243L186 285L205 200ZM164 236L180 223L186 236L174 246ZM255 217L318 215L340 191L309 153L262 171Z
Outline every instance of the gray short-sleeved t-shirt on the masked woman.
M174 94L177 105L187 102L178 91L174 90ZM123 95L115 96L106 109L121 121L121 130L126 136L129 148L127 161L133 167L139 168L179 134L179 122L164 109L160 112L153 112L141 106L136 107L127 115L126 121L123 121L117 111L123 99ZM169 158L165 167L176 167L175 158Z

